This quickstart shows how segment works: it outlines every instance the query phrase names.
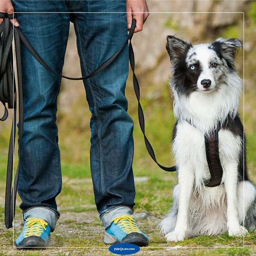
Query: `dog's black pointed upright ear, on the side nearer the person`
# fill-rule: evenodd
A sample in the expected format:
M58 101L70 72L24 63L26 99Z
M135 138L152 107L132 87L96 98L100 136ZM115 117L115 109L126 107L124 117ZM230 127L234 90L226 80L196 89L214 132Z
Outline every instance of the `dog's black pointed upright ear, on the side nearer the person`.
M171 61L175 61L184 55L192 45L175 36L167 36L166 50Z

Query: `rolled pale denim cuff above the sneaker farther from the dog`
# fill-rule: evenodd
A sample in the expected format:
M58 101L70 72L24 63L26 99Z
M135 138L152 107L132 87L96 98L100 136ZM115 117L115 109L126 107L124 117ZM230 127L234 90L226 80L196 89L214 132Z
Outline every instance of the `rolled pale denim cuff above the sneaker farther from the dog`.
M26 221L28 218L39 218L45 220L50 226L51 232L53 232L59 216L47 207L35 206L24 211L23 220Z

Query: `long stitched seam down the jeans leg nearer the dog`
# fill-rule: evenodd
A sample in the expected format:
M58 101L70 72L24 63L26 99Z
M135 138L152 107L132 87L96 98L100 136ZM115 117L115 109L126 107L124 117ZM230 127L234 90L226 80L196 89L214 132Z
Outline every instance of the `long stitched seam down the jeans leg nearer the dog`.
M90 11L90 10L89 10ZM78 26L78 22L77 22L77 19L75 20L75 24L76 24L76 27L77 27L77 33L78 33L78 40L79 40L79 43L80 43L80 51L81 51L81 59L82 59L82 62L83 62L83 65L85 67L85 73L86 75L88 75L88 71L87 71L87 67L86 67L86 64L85 64L85 60L84 60L84 57L83 57L83 49L82 49L82 44L81 44L81 37L80 37L80 31L79 31L79 26ZM97 117L97 121L99 122L99 128L98 128L98 138L99 138L99 147L100 147L100 183L101 183L101 189L102 189L102 192L104 193L104 186L103 186L103 175L102 175L102 172L103 172L103 164L102 164L102 140L101 140L101 127L102 127L102 123L100 121L100 118L99 118L99 115L98 115L98 112L97 112L97 107L96 107L96 102L95 102L95 96L94 96L94 92L93 92L93 89L92 89L92 85L90 83L90 79L87 79L88 81L88 87L90 88L90 91L92 93L92 99L93 99L93 104L94 104L94 111L95 111L95 115Z

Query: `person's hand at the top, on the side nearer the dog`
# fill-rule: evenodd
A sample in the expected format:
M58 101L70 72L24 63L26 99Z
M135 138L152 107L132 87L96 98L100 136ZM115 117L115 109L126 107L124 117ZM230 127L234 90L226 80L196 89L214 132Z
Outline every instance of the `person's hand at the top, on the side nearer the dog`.
M127 28L131 28L132 19L136 19L134 32L142 31L143 24L149 17L149 8L145 0L126 0Z

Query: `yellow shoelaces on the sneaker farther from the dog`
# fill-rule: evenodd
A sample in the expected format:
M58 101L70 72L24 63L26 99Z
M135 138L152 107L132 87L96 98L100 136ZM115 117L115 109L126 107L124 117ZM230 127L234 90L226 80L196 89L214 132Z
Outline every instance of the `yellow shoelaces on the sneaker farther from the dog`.
M29 235L36 235L40 237L43 234L43 230L46 230L48 223L43 219L28 218L26 221L26 228L24 231L24 238Z

